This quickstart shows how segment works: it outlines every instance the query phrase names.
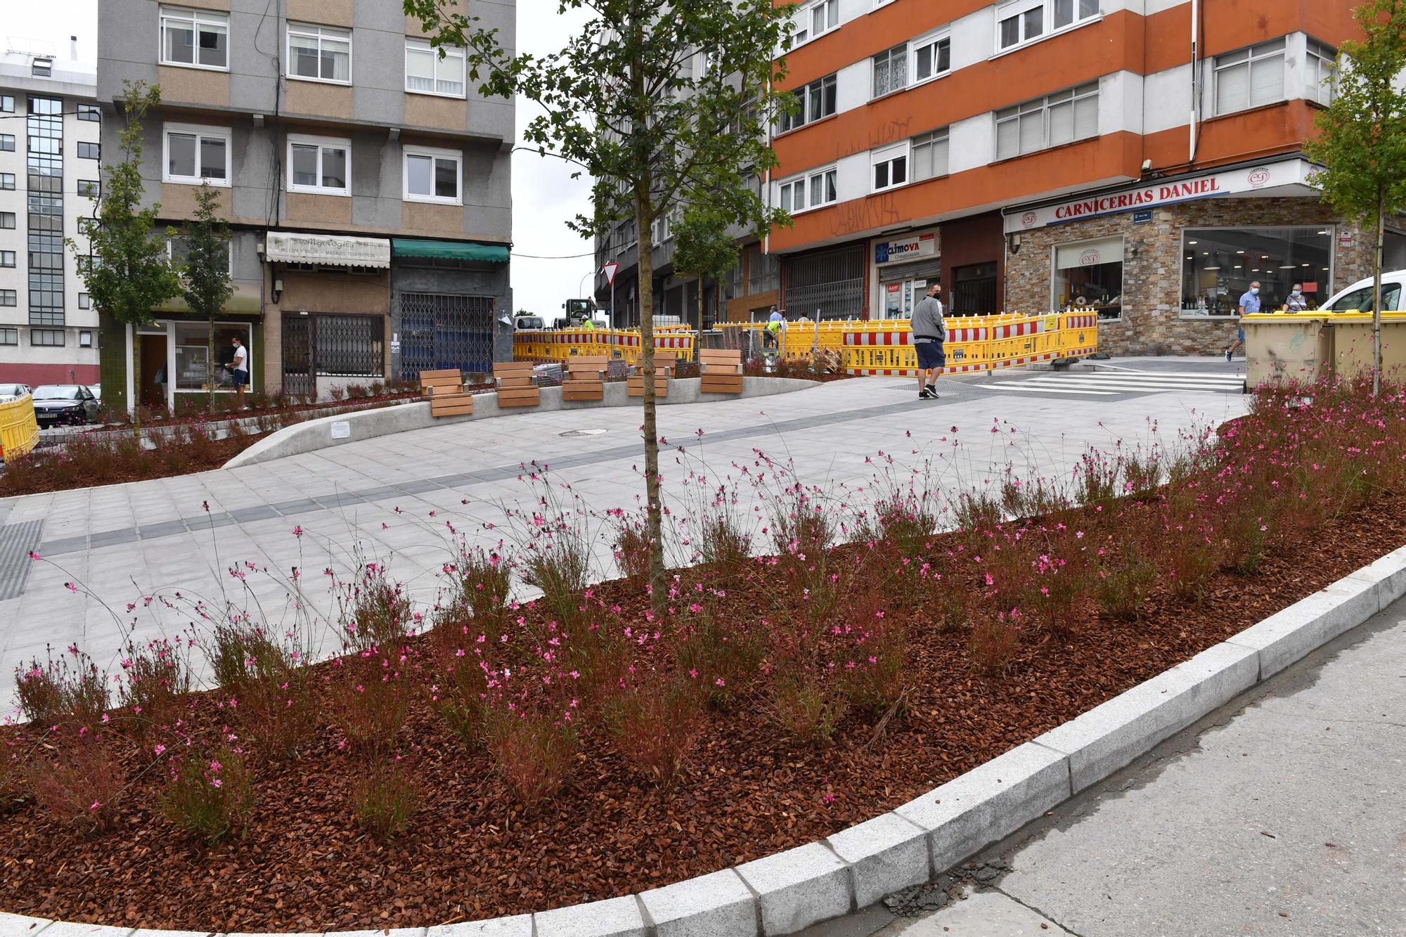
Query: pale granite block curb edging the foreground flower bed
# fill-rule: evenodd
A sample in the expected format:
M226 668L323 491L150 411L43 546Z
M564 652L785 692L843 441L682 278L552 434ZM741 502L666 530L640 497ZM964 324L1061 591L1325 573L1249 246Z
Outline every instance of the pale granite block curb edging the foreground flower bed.
M931 881L1403 595L1406 547L889 813L737 868L536 914L335 937L792 934ZM38 934L197 937L0 913L0 937Z

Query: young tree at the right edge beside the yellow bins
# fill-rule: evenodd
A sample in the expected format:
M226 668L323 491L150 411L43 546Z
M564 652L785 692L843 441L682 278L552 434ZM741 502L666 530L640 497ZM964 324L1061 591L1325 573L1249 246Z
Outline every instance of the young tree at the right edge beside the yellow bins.
M1369 0L1353 11L1365 39L1344 42L1334 98L1303 145L1323 165L1313 184L1337 211L1376 236L1372 252L1372 394L1382 381L1382 235L1406 210L1406 0Z

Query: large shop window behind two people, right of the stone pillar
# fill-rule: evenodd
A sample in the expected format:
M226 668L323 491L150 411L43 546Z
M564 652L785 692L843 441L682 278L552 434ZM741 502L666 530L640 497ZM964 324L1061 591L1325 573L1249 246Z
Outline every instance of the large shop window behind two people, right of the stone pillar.
M1237 315L1240 297L1260 283L1260 308L1278 310L1295 283L1309 308L1333 287L1333 229L1187 228L1181 235L1181 314Z

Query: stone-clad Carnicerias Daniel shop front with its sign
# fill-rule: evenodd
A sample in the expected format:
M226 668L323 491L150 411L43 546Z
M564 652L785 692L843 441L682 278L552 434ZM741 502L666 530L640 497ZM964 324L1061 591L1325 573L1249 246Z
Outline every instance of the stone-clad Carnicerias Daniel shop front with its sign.
M1294 158L1007 210L1008 308L1095 311L1114 355L1219 355L1251 283L1267 311L1295 287L1315 307L1371 272L1369 238L1312 170Z

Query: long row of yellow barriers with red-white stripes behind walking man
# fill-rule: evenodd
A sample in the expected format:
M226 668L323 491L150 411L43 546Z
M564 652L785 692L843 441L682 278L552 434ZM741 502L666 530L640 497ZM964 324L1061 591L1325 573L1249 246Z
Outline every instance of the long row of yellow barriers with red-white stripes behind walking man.
M1049 312L1022 315L949 315L945 345L948 374L988 371L1056 357L1083 357L1098 350L1098 315ZM720 322L723 348L749 353L770 350L765 322ZM655 348L690 356L695 333L685 325L655 329ZM851 374L914 374L918 355L908 319L796 319L782 328L778 357L808 363L814 352L839 357ZM519 332L513 353L519 359L564 362L572 355L612 355L631 364L640 359L638 329Z

